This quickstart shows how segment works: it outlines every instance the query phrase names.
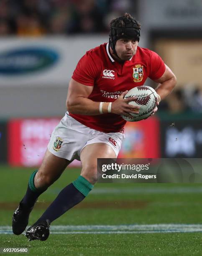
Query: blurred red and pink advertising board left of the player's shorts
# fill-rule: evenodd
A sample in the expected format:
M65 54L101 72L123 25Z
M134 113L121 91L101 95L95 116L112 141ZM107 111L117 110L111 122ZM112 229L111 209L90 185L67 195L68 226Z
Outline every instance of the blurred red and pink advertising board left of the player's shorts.
M41 164L50 136L60 118L14 119L8 122L8 163Z

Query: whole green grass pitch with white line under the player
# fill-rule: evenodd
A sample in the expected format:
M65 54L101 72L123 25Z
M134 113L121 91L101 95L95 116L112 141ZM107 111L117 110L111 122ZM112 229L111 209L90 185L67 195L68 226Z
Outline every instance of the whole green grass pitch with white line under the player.
M1 248L28 248L28 255L202 255L200 184L96 184L52 223L47 241L28 242L11 234L11 218L33 169L0 166L0 172ZM78 175L67 169L39 197L29 225Z

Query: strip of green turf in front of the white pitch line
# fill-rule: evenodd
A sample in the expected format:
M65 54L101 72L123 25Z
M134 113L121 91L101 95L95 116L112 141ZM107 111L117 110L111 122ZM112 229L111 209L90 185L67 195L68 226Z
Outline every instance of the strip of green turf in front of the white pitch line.
M2 248L28 248L24 255L200 256L202 251L201 233L51 235L45 242L28 242L22 235L1 238Z

